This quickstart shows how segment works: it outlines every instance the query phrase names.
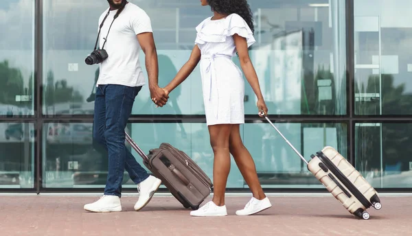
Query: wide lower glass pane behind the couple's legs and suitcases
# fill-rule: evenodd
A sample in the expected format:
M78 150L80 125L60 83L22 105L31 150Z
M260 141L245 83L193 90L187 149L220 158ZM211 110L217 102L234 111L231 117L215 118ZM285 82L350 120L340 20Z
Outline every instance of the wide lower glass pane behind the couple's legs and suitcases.
M347 156L344 123L279 123L279 130L309 159L325 145ZM91 145L91 123L47 123L43 147L45 187L104 187L107 158ZM213 178L214 155L205 123L132 123L126 131L148 153L161 143L170 143L189 155ZM247 123L240 128L244 145L251 152L264 187L321 187L310 178L304 164L268 123ZM126 146L131 150L130 145ZM141 157L131 150L140 165ZM135 187L124 172L124 187ZM231 158L228 188L247 188L236 162Z

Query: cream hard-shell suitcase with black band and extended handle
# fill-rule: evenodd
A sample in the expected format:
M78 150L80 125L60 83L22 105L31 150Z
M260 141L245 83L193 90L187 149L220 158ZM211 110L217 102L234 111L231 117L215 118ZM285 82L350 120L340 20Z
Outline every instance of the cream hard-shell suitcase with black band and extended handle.
M273 125L271 120L264 113L262 115L306 163L308 170L343 204L347 211L356 217L367 220L369 213L366 209L369 207L374 207L376 210L381 209L378 192L333 147L323 147L316 155L312 154L311 160L308 162Z

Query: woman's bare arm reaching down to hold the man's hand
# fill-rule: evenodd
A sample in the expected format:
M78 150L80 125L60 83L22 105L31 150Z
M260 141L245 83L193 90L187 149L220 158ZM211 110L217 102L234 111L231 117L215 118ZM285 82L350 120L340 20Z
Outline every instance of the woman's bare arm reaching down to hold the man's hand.
M189 77L190 73L192 73L192 71L197 66L200 60L201 49L199 49L198 46L195 45L192 50L192 54L190 54L189 60L187 60L187 62L179 70L174 79L167 86L165 86L165 93L169 94L173 91L174 88L176 88L177 86L179 86L179 84L185 81L187 77Z

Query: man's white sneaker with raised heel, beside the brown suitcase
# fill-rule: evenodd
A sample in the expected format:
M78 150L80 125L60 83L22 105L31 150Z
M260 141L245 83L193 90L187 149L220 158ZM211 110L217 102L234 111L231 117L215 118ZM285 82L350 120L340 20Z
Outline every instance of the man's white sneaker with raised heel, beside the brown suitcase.
M159 189L160 185L161 180L155 176L149 176L137 185L139 200L135 204L135 211L139 211L150 202L150 199L152 199L153 194Z

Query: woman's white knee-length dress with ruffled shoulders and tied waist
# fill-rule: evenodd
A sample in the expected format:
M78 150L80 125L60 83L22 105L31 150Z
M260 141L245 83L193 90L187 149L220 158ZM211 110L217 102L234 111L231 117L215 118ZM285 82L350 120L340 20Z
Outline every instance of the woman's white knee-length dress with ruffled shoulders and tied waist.
M255 43L246 21L238 14L205 19L196 27L195 44L201 49L201 77L207 126L244 123L244 79L231 58L236 56L233 34Z

